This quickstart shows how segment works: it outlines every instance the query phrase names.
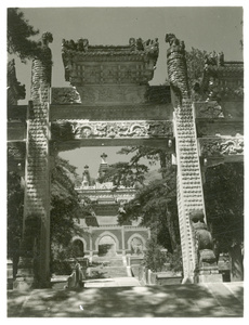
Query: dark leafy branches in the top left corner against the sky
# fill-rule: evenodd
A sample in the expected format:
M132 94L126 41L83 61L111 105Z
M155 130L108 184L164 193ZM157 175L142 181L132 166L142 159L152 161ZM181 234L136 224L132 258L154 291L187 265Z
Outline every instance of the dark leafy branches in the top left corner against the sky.
M24 13L17 8L8 8L8 52L16 54L23 63L35 56L38 49L38 42L29 39L39 34L25 20Z

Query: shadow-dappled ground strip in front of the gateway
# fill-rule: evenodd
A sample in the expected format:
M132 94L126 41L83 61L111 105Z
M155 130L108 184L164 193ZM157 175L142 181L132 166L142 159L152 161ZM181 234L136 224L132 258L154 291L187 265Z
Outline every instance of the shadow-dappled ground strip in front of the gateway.
M232 289L206 284L10 291L8 316L241 317L243 284Z

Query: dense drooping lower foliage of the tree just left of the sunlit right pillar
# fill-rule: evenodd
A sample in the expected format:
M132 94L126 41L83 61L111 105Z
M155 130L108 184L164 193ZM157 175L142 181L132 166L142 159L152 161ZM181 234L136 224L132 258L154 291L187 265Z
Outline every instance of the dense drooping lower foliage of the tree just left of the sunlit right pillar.
M137 219L155 234L158 245L171 252L174 250L180 243L180 235L173 169L168 171L166 178L141 187L134 199L119 212L121 224Z

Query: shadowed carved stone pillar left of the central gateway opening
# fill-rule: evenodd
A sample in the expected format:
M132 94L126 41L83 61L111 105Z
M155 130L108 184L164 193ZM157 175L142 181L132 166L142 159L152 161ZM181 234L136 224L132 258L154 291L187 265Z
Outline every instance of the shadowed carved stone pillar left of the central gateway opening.
M27 120L22 258L14 288L50 284L50 87L52 35L42 44L31 69L31 103Z

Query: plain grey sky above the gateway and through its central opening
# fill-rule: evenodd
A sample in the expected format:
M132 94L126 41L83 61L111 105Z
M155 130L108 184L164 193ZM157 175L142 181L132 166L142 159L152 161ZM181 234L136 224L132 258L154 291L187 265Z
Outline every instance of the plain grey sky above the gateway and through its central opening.
M19 1L21 2L21 1ZM10 5L11 6L11 5ZM224 52L225 60L241 61L243 51L239 40L243 39L241 6L149 6L149 8L22 8L25 18L40 32L51 31L53 42L50 44L53 55L52 87L69 87L64 79L62 62L62 39L89 39L95 44L128 44L131 37L159 40L159 57L150 84L163 83L167 79L165 42L167 32L175 34L184 40L186 50L198 48L208 52ZM42 6L42 5L41 5ZM39 36L40 37L40 36ZM39 38L38 37L38 38ZM22 64L16 60L16 74L21 83L26 84L26 99L30 100L31 64ZM120 160L116 147L104 150L107 161ZM103 147L90 147L62 153L61 156L78 168L90 166L92 176L96 176ZM126 159L129 160L129 157Z

